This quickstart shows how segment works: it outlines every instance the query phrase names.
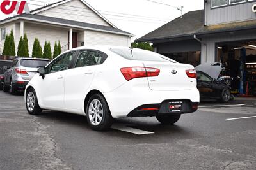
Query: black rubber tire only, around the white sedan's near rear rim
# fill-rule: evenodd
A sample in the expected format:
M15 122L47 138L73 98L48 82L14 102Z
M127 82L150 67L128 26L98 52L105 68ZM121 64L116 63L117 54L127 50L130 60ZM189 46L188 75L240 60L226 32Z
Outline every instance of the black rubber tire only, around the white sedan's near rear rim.
M102 104L102 108L103 108L102 120L99 125L93 125L90 122L90 118L88 116L89 105L94 99L98 99L100 101L100 103ZM113 124L113 118L111 116L111 113L110 113L110 110L108 107L108 103L106 102L106 99L100 94L93 94L90 97L88 103L86 104L86 117L87 117L87 122L90 125L90 127L96 131L106 131Z

